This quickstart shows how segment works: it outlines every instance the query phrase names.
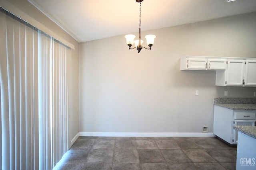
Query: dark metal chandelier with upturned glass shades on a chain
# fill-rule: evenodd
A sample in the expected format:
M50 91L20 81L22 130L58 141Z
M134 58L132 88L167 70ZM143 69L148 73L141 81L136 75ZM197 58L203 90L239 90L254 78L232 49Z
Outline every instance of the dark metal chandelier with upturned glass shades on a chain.
M141 2L142 2L142 1L143 1L143 0L136 0L136 2L140 2L140 16L141 16ZM139 27L140 27L140 24L139 24ZM138 40L135 40L135 41L134 41L134 38L135 38L136 36L135 36L135 35L131 35L131 34L125 35L124 37L126 38L126 43L127 43L127 45L129 46L129 49L135 49L135 48L136 48L136 49L138 50L138 53L140 53L140 50L141 50L142 48L151 50L151 47L152 47L152 45L154 44L154 39L156 38L156 35L150 34L150 35L146 35L146 36L145 36L149 48L146 48L146 47L143 47L143 46L142 46L143 40L140 39L140 28L139 28L139 39L138 39ZM135 47L134 47L134 48L131 48L132 45L133 45L133 43L135 43Z

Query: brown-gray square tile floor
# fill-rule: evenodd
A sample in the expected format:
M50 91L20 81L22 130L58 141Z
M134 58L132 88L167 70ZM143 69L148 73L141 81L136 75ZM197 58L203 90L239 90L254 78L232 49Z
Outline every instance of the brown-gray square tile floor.
M79 137L54 170L235 170L214 137Z

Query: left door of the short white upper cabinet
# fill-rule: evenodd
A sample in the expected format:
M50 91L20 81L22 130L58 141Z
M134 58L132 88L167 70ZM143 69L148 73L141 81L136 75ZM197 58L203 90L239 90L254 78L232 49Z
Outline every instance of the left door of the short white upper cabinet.
M188 58L187 67L189 70L206 70L207 59Z

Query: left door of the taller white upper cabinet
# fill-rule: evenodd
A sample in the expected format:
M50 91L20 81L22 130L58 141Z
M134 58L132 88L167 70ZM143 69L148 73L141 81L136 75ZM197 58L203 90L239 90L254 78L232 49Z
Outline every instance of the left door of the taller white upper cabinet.
M243 86L244 60L228 60L226 86Z

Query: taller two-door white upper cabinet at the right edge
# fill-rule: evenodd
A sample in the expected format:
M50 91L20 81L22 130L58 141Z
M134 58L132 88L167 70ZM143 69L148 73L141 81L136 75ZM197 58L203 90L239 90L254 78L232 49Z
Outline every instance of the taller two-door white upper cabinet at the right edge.
M228 60L226 71L216 71L216 86L256 86L256 60Z

